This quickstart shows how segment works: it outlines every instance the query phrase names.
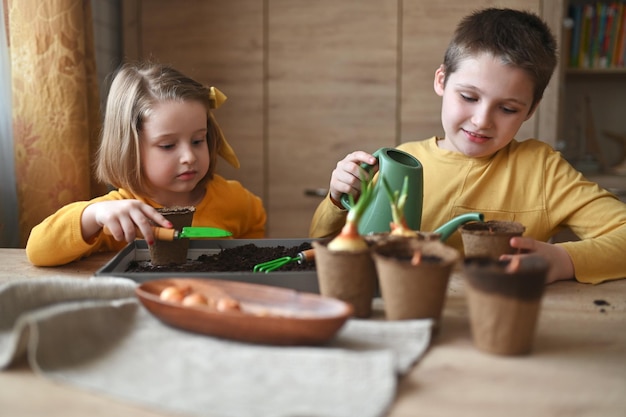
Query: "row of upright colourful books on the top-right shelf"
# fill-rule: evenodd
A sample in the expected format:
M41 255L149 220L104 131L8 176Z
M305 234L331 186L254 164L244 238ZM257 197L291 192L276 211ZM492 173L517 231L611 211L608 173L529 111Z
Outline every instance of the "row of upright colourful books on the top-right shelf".
M626 0L576 3L569 6L571 68L624 68Z

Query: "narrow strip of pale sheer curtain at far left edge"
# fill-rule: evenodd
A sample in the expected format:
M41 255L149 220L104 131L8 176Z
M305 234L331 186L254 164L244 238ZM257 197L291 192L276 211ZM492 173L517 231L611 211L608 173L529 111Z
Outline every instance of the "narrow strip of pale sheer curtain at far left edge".
M3 3L0 7L0 247L14 248L19 246L20 239L11 128L11 63L5 21Z

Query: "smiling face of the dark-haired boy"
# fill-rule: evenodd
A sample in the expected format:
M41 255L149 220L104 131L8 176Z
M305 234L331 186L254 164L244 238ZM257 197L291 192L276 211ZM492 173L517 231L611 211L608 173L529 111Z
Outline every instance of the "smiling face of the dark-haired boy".
M460 62L448 75L435 73L435 92L442 97L445 140L439 147L467 156L489 156L505 147L532 116L533 82L523 70L482 54Z

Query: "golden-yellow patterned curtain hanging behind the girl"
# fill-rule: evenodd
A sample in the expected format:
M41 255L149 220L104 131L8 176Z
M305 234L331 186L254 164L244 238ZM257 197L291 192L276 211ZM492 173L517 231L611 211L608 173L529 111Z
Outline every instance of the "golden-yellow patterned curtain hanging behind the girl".
M9 0L20 244L62 206L103 194L93 178L101 127L89 0Z

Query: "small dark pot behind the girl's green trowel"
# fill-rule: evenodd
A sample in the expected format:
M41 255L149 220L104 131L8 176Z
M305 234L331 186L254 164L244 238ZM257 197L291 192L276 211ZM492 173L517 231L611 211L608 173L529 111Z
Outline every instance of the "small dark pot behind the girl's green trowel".
M182 230L191 226L195 207L166 207L157 209L167 220L172 222L174 229ZM189 239L172 241L155 240L149 247L152 265L184 264L187 261Z

